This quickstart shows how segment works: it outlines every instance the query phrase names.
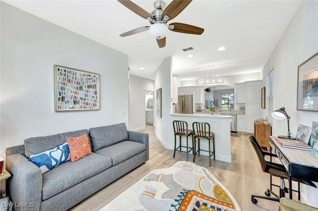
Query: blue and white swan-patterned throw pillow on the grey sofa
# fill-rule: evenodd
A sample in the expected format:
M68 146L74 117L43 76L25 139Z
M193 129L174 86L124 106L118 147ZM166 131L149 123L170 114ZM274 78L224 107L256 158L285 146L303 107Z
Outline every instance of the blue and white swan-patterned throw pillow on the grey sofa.
M30 161L40 167L42 174L55 166L70 160L68 143L64 143L52 150L30 156Z

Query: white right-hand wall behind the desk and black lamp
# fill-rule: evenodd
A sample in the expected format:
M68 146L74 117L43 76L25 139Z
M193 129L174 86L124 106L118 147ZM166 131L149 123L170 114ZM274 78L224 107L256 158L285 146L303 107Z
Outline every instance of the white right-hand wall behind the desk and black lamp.
M296 105L298 65L317 52L318 1L303 1L262 70L265 86L266 73L274 67L274 109L286 107L291 115L292 136L298 124L311 126L318 119L318 112L297 111ZM274 120L272 132L275 136L286 135L287 120ZM302 185L302 191L302 201L318 207L318 189Z

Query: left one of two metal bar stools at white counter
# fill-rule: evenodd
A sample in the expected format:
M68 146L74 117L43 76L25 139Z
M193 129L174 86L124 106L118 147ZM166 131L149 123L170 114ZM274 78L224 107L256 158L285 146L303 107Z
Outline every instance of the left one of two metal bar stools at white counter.
M192 147L189 147L189 143L188 143L188 137L192 136L193 131L192 130L188 130L188 123L186 121L180 121L180 120L174 120L172 122L173 124L173 131L174 131L174 152L173 152L173 158L175 156L175 151L179 151L179 152L184 152L187 153L187 160L188 160L188 154L189 152L193 152L193 138L192 138ZM176 136L179 136L179 147L176 147L177 145L177 141L176 141ZM187 145L186 146L182 146L181 145L181 137L185 136L187 139ZM186 148L186 151L182 150L183 148Z

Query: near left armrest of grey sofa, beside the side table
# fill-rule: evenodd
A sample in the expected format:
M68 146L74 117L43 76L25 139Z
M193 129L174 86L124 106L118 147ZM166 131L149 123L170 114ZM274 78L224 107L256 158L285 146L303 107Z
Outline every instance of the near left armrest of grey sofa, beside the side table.
M25 203L27 206L15 210L40 210L42 201L42 173L28 158L21 154L5 157L5 168L11 174L6 180L6 191L13 203Z

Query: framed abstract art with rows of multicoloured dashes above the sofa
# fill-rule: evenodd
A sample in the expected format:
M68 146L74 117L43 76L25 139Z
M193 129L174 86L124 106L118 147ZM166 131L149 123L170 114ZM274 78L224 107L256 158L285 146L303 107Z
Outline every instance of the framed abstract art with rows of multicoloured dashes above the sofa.
M55 111L98 110L99 74L54 65Z

